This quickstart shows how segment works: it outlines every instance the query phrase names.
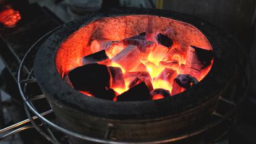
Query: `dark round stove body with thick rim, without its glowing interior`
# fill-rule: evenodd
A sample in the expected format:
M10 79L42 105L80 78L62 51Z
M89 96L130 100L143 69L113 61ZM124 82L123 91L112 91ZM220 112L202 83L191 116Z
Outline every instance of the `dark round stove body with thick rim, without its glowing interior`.
M155 101L114 102L85 96L71 88L56 67L61 44L82 27L108 17L153 15L186 22L210 42L214 62L210 72L197 85L177 95ZM233 37L208 22L189 15L153 9L129 9L89 15L66 23L49 36L36 54L35 77L48 98L54 114L67 129L96 138L138 142L176 135L207 121L216 100L228 88L235 72L237 48ZM83 143L70 137L72 143Z

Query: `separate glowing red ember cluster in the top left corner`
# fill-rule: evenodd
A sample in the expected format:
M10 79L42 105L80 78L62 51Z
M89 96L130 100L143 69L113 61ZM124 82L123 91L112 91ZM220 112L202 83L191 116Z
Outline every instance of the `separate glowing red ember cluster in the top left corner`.
M13 27L20 19L19 11L14 11L14 9L4 9L0 12L0 23L7 27Z

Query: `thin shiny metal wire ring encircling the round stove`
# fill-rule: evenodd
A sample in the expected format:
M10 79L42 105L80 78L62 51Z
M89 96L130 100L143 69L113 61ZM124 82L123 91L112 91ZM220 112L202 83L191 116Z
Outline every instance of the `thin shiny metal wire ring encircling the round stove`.
M60 27L58 27L60 28ZM57 30L58 28L54 29L54 30ZM43 122L43 124L46 124L46 125L49 125L51 128L55 129L55 130L58 130L62 133L65 133L67 135L71 135L73 137L77 137L77 138L81 138L83 140L87 140L88 142L96 142L96 143L113 143L113 144L119 144L119 143L130 143L130 142L116 142L114 140L108 140L108 139L100 139L100 138L93 138L93 137L88 137L86 135L81 135L79 133L75 133L75 132L72 132L70 130L67 130L67 129L64 129L63 127L60 127L59 125L56 125L54 124L53 122L49 121L48 119L46 119L44 116L41 116L41 114L37 111L37 109L35 109L33 107L33 103L32 101L30 101L28 99L28 96L25 94L25 91L23 91L23 82L26 82L26 80L21 80L21 73L22 73L22 69L23 69L23 64L24 64L24 61L25 59L27 58L27 56L29 56L30 54L30 51L42 40L45 40L45 38L47 38L51 33L54 32L51 31L49 32L48 34L46 34L45 36L43 36L42 38L40 38L40 40L38 40L35 44L33 44L33 46L28 50L28 52L25 54L25 56L23 57L22 59L22 62L20 64L20 67L19 67L19 73L18 73L18 81L19 81L19 90L20 90L20 93L22 95L22 98L23 98L23 101L25 103L25 109L29 109L31 112L33 112L33 114L35 114L36 116L38 116L38 118ZM30 74L32 75L32 74ZM249 77L250 78L250 77ZM28 80L27 82L30 82L30 80ZM246 91L245 91L246 92ZM243 96L242 96L243 97ZM227 104L232 104L234 106L234 101L231 101L231 100L224 100L223 98L221 98L221 101L224 101L225 103L228 102ZM167 143L167 142L176 142L178 140L182 140L184 138L189 138L189 137L193 137L195 135L198 135L199 133L202 133L202 132L205 132L213 127L215 127L216 125L220 124L220 122L224 121L225 119L232 119L233 117L230 117L232 114L234 114L234 109L235 109L235 106L231 109L229 109L228 112L226 112L226 114L224 115L221 115L221 114L217 114L215 113L215 115L217 114L220 118L214 122L212 122L211 124L208 124L206 125L205 127L202 127L202 129L199 129L199 130L195 130L194 132L190 132L190 133L185 133L184 135L181 135L179 137L175 137L175 138L168 138L166 140L158 140L158 141L154 141L154 142L138 142L138 143ZM28 114L28 111L27 111L27 114ZM30 114L28 114L28 116L30 117ZM32 120L33 121L33 120ZM35 123L32 123L34 126L36 125ZM36 126L37 127L37 126ZM39 128L39 127L37 127ZM106 130L106 138L108 138L108 134L111 130ZM42 132L42 130L40 130L40 128L38 129L38 132ZM225 132L226 133L226 132ZM225 134L223 133L223 135ZM223 136L222 135L222 136ZM52 143L60 143L58 141L56 141L56 138L52 138L53 137L53 133L51 133L51 136L49 135L45 135L43 134L43 136L45 136L50 142ZM221 137L221 135L220 135ZM220 138L218 137L218 139Z

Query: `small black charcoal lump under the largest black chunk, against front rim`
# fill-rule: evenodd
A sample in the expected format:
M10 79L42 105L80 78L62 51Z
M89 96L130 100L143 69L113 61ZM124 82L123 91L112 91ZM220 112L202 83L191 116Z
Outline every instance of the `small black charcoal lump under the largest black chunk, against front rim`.
M98 90L95 93L93 93L93 96L95 96L96 98L101 98L104 100L113 100L114 97L116 96L116 91L114 91L113 89L102 89L102 90Z

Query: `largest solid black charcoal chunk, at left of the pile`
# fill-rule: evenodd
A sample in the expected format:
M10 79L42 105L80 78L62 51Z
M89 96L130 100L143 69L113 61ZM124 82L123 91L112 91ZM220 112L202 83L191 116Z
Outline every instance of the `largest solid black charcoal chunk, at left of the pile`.
M77 67L69 72L69 79L75 90L88 91L93 95L110 86L108 67L100 64Z

